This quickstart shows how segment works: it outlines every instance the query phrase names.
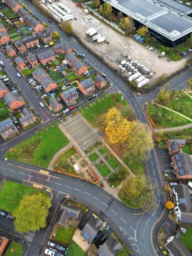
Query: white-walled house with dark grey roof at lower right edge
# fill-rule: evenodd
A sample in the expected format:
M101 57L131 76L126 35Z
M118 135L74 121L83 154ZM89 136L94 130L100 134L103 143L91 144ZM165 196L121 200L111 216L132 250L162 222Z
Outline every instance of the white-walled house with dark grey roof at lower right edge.
M192 224L192 198L187 185L177 185L172 189L176 206L174 207L175 217L178 222Z

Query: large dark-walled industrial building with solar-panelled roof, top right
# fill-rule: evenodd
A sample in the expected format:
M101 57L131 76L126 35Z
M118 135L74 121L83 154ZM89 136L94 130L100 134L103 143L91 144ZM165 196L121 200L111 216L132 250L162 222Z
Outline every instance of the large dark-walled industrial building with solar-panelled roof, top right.
M174 0L103 0L135 21L147 26L158 42L174 47L185 42L192 32L192 9Z

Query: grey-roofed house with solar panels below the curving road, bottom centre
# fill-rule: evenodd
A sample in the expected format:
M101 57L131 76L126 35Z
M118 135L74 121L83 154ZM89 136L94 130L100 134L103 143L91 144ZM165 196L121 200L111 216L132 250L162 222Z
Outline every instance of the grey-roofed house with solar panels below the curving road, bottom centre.
M96 234L98 234L102 225L102 220L92 216L90 220L87 222L86 226L84 226L81 234L84 238L86 238L88 243L92 243L94 241L94 238L96 238Z

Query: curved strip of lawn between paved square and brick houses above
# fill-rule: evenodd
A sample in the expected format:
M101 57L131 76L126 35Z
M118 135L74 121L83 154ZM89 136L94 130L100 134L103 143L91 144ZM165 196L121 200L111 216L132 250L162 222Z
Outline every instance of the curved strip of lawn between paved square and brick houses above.
M97 127L97 120L100 115L105 114L113 106L122 104L127 105L127 102L124 98L123 101L121 100L121 94L110 94L84 109L82 115L93 127Z

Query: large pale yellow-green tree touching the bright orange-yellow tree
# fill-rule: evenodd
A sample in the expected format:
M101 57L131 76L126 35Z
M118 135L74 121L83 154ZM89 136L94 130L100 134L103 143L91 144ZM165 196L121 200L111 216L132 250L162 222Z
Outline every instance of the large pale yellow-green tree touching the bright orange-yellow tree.
M128 158L130 163L146 160L153 147L152 131L148 125L131 122L128 141L123 144L123 157Z

